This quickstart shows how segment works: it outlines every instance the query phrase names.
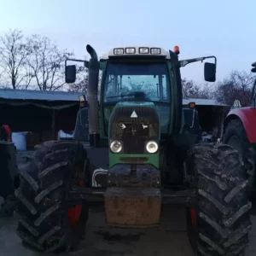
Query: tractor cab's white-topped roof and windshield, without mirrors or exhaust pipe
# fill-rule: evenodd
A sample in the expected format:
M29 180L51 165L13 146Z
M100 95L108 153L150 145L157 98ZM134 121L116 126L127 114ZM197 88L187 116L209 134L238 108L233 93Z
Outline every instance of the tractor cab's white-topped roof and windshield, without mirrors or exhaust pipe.
M117 102L154 103L160 116L160 131L167 133L173 93L167 55L164 49L146 47L112 49L103 55L100 99L103 137L108 136L110 115Z

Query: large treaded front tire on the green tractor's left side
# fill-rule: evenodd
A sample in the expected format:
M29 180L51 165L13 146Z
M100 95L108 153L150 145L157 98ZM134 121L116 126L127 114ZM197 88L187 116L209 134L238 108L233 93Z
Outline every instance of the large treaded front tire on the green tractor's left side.
M26 172L20 172L20 188L15 191L17 235L42 252L67 250L84 236L88 218L89 208L84 202L79 223L71 225L67 197L74 175L78 175L75 166L83 171L86 150L74 142L47 142L37 148Z

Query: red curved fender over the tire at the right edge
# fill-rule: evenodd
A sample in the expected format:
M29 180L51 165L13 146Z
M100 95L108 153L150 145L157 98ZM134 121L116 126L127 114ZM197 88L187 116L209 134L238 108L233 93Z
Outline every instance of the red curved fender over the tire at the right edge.
M232 119L240 119L247 132L248 141L250 143L256 143L256 108L247 107L230 110L224 121L224 127Z

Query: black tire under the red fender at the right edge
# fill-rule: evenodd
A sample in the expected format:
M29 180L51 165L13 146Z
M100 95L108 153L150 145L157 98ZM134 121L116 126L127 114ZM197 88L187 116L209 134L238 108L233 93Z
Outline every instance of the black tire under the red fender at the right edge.
M224 144L229 144L235 148L246 168L247 176L250 183L250 200L253 202L253 207L256 207L256 184L255 184L255 161L256 150L255 145L249 143L247 133L240 119L231 120L224 131Z

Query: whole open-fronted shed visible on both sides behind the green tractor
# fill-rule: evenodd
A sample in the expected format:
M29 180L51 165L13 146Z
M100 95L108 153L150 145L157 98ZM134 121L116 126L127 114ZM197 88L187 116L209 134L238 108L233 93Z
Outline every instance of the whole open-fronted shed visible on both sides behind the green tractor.
M41 135L39 143L55 139L56 131L74 129L79 95L81 92L0 90L0 124L8 123L13 131L48 133L47 136ZM214 99L197 98L184 98L183 106L189 102L195 102L202 131L215 131L218 137L222 137L224 117L230 106Z

